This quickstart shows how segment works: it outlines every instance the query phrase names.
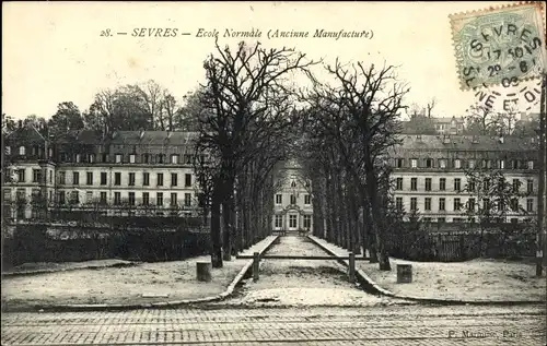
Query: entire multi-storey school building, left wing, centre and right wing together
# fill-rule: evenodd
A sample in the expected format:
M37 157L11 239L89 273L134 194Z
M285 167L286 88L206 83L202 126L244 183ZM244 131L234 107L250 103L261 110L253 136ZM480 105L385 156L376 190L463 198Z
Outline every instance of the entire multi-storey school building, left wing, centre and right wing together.
M118 131L103 136L83 130L46 139L20 127L4 139L3 213L13 219L44 217L59 211L102 215L191 215L199 210L191 132ZM394 198L405 212L430 222L464 222L469 203L485 199L468 192L466 171L499 170L519 181L519 208L507 222L537 213L537 143L508 136L403 134L389 153ZM275 230L313 229L310 182L298 163L277 170ZM488 202L488 201L487 201ZM47 215L46 215L47 216Z

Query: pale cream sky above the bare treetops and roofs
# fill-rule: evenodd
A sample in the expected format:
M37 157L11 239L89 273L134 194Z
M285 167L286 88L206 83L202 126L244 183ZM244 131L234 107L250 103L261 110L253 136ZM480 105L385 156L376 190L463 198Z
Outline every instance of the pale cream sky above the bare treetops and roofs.
M101 90L148 80L182 99L205 81L202 62L214 49L213 38L196 37L200 29L254 28L266 47L295 48L310 59L396 65L410 86L407 104L434 98L433 115L462 116L476 96L459 90L449 15L497 3L3 2L2 112L49 118L61 102L85 110ZM141 28L176 28L177 36L133 37ZM372 38L265 37L270 29L366 31ZM106 31L114 35L101 36Z

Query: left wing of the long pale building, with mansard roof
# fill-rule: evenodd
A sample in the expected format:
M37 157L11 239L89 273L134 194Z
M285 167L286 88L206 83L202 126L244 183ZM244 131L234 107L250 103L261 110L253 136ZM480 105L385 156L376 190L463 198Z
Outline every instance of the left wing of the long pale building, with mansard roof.
M4 139L4 211L14 219L62 211L102 215L197 212L191 132L82 130L46 139L20 127Z

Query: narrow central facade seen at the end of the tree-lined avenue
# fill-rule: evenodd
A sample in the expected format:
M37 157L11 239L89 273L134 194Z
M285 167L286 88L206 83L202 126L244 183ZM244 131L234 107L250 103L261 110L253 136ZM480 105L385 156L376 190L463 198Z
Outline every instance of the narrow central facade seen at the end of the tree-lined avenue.
M299 164L282 163L275 181L278 191L274 195L274 230L313 230L311 184Z

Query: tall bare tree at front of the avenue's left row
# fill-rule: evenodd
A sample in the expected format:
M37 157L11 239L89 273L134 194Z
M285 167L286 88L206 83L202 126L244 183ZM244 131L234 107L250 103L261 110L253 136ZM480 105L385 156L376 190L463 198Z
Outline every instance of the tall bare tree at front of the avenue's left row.
M257 140L280 133L290 126L291 88L284 79L299 71L305 71L313 62L294 49L265 49L260 44L254 47L240 43L232 51L216 44L216 56L205 63L207 84L202 86L201 100L207 111L199 119L197 146L219 160L216 166L211 201L211 235L214 267L222 266L222 247L225 259L230 258L232 246L233 192L237 172L263 150ZM268 145L267 141L263 141ZM224 236L220 241L220 205L224 217Z

